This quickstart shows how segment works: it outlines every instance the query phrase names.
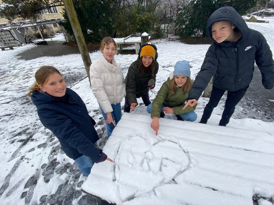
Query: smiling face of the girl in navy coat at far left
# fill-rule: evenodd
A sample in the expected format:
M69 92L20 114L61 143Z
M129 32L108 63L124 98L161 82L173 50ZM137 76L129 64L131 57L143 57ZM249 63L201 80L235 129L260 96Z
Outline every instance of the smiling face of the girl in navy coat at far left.
M43 92L54 97L63 97L66 93L66 83L59 73L51 73L44 85L39 85Z

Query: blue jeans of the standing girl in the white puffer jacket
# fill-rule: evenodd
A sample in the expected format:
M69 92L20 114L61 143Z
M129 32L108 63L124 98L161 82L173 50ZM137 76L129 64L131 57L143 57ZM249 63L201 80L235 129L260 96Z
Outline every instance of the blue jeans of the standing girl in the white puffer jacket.
M104 111L102 110L101 106L99 105L101 112L102 112L102 116L104 118L104 120L106 120L106 113L104 113ZM119 120L122 117L122 110L121 110L121 103L117 103L115 104L111 104L112 107L112 118L114 120L115 125L117 126L117 123L119 122ZM112 124L112 122L110 124L106 123L106 131L108 132L108 137L111 135L112 131L114 129L114 125Z

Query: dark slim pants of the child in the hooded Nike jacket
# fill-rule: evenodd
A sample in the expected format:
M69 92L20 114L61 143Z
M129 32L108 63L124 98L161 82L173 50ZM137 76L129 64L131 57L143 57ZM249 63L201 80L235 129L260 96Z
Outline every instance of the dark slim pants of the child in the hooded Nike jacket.
M245 95L245 92L247 88L249 87L246 86L240 90L237 91L227 91L227 98L225 101L225 108L223 110L222 118L219 122L219 125L221 126L226 126L227 123L229 122L230 117L234 113L235 106L240 102L242 97ZM204 113L202 115L200 123L207 123L207 120L210 118L211 113L215 107L217 107L219 101L221 100L223 94L225 93L225 90L212 87L211 95L209 98L209 102L207 103Z

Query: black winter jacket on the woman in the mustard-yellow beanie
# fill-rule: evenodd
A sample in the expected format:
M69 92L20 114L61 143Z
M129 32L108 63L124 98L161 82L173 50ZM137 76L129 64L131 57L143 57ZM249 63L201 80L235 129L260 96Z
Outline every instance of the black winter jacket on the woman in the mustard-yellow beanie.
M126 97L128 98L129 104L137 103L137 98L140 98L142 94L147 93L148 81L154 79L154 86L156 82L156 74L159 70L159 64L157 61L154 61L154 76L151 72L141 74L139 69L141 59L138 57L136 61L131 63L128 68L128 73L126 75Z

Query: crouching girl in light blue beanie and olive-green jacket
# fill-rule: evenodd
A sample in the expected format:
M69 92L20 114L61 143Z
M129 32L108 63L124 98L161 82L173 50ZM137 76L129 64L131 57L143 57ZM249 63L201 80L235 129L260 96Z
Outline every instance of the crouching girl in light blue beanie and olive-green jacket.
M194 112L197 105L183 109L192 84L189 62L185 60L178 61L175 64L174 71L163 83L152 104L147 107L147 111L152 118L150 126L156 132L156 136L160 127L159 118L164 117L164 113L175 114L177 120L182 121L193 122L197 119L197 114Z

